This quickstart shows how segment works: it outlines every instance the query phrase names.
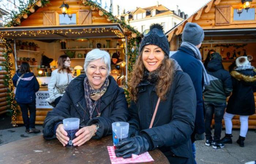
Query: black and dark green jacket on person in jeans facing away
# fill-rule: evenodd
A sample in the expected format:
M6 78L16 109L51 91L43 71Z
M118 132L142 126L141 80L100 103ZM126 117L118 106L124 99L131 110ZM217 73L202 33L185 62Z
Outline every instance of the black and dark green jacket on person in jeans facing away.
M205 86L204 101L226 102L232 91L232 79L222 67L221 59L213 59L207 65L210 85Z

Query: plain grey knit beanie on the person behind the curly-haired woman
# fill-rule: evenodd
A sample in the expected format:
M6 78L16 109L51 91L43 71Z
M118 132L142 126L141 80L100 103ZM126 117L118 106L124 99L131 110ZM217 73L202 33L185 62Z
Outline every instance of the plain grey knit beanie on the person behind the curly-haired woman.
M204 30L196 23L186 23L182 33L182 42L189 42L197 46L204 40Z

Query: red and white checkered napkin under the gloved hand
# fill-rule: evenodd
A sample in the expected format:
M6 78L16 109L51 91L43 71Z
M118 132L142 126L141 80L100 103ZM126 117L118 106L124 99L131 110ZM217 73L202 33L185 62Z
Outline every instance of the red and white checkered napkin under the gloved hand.
M150 162L154 159L150 156L148 152L141 155L132 154L131 158L123 159L123 157L116 157L114 147L108 147L109 157L112 164L124 164L124 163L140 163L140 162Z

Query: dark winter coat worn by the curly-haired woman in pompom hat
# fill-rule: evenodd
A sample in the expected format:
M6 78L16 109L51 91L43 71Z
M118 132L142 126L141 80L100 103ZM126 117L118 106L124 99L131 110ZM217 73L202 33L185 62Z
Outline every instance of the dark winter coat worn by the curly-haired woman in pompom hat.
M128 121L173 163L193 163L190 136L194 129L196 93L188 74L176 71L166 101L160 101L154 124L148 129L157 104L155 85L142 81L138 99L131 102Z

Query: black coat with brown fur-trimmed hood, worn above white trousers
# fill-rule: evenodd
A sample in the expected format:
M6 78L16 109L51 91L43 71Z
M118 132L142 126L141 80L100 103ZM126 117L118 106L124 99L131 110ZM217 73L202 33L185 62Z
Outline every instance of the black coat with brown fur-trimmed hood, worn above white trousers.
M232 71L233 92L226 112L243 116L255 114L256 73L252 69Z

